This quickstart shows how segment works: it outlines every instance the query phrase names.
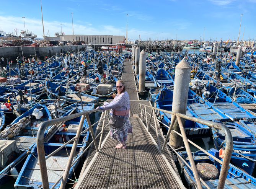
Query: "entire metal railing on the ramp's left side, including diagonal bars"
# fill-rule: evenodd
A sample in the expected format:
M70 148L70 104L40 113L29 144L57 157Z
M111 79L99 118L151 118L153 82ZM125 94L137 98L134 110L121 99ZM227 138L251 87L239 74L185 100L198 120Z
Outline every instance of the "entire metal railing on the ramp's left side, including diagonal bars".
M83 111L83 112L68 115L68 116L65 116L65 117L60 117L60 118L57 118L57 119L52 119L52 120L49 120L49 121L46 121L46 122L42 122L42 124L40 125L40 127L38 129L38 134L37 134L37 137L36 137L36 147L37 147L37 151L38 151L38 161L39 161L40 173L41 173L41 178L42 178L42 187L44 189L49 189L49 181L48 181L48 175L47 175L46 160L48 158L50 158L52 155L54 155L56 152L58 152L59 150L64 148L67 144L74 141L71 152L70 152L70 155L69 155L69 158L68 158L67 166L66 166L65 171L64 171L64 174L62 176L60 176L60 178L57 180L57 182L55 182L55 184L51 187L51 189L53 189L60 182L61 179L62 179L62 181L61 181L60 189L65 188L70 168L73 165L75 165L75 163L79 160L80 157L82 157L82 155L86 152L86 150L88 150L88 148L92 145L92 143L94 143L97 152L99 152L99 150L101 148L101 140L102 140L103 130L105 128L105 120L106 120L107 111L104 112L104 118L99 120L99 121L103 120L102 130L98 134L98 136L100 135L99 145L96 142L96 138L98 136L95 137L94 132L93 132L93 125L97 124L99 121L97 121L93 125L91 125L91 121L90 121L90 118L89 118L89 115L88 115L88 114L90 114L92 112L96 112L96 111L99 111L99 109ZM44 131L46 130L46 127L51 126L51 125L55 125L55 124L59 124L59 123L62 123L62 122L65 122L65 121L68 121L70 119L74 119L74 118L80 117L80 116L82 116L82 117L81 117L81 120L80 120L80 124L79 124L78 130L77 130L76 136L73 137L68 142L64 143L61 147L59 147L57 150L55 150L54 152L52 152L50 155L48 155L46 157L45 152L44 152ZM83 132L81 132L82 128L83 128L83 123L84 123L85 118L86 118L86 121L88 122L89 128L84 130ZM108 117L108 119L109 119L109 117ZM61 125L60 125L60 127L61 127ZM82 154L80 156L78 156L75 161L73 161L73 157L75 155L75 151L76 151L76 148L77 148L79 137L80 137L81 134L83 134L87 130L90 130L93 141L88 145L88 147L85 150L83 150Z

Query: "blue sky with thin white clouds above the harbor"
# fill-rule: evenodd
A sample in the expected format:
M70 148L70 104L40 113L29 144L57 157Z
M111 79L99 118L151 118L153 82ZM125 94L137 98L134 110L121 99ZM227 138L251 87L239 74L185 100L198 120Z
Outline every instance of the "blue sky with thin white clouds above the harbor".
M79 5L79 7L78 7ZM0 30L13 32L15 27L42 36L40 0L12 0L1 2ZM5 8L3 8L5 7ZM31 8L30 8L31 7ZM256 0L129 0L84 1L42 0L44 32L72 34L72 16L75 34L105 34L139 39L237 39L243 14L240 39L256 36Z

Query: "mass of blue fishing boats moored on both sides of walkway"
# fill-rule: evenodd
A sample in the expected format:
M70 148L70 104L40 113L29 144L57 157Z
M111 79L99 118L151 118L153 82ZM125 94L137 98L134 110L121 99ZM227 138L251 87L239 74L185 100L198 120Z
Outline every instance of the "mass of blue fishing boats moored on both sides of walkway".
M18 57L16 66L2 66L0 186L16 179L17 189L41 188L36 146L40 124L94 109L116 96L116 81L122 77L124 61L128 61L131 53L108 50L94 51L88 46L86 51L54 55L45 61ZM256 188L256 179L252 176L256 166L256 108L253 105L256 104L256 52L242 54L239 65L236 65L238 57L234 54L216 52L217 49L200 54L189 54L188 51L148 53L145 90L154 107L171 111L175 67L181 60L186 60L191 66L186 115L227 125L233 137L233 152L227 176L231 184L226 187L240 183L243 187ZM133 67L135 71L135 65ZM136 74L135 83L139 85L139 75ZM171 114L154 113L162 122L161 127L168 130ZM89 116L91 118L93 113ZM47 127L44 132L46 156L75 137L81 117ZM78 163L85 159L83 150L90 138L88 127L85 119L69 179ZM185 121L184 129L190 140L213 137L215 149L207 152L222 161L226 145L222 130L190 120ZM55 184L64 173L71 148L72 144L67 144L52 157L46 157L49 185ZM192 170L186 164L189 164L187 152L175 155L189 188L195 189ZM205 182L210 187L217 186L221 164L202 151L194 152L193 156L196 163L213 165L215 175ZM55 188L59 186L60 182Z

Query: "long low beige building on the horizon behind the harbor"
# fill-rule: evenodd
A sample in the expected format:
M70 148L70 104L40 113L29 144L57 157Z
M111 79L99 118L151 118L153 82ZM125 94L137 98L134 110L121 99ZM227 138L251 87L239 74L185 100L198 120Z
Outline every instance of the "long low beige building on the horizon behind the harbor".
M74 35L75 41L85 41L89 44L116 44L124 41L124 36L113 35ZM60 36L60 41L73 41L73 35Z

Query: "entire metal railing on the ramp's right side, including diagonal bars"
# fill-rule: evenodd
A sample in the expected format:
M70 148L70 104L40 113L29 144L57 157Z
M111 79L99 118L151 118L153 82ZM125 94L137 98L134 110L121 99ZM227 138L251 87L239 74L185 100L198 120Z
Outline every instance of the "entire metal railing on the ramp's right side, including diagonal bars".
M149 110L150 113L149 113L149 111L147 112L147 109L150 109ZM165 113L168 113L168 114L172 114L173 116L172 116L172 119L171 119L171 124L166 125L163 122L159 121L156 118L156 115L155 115L155 112L154 112L155 110L165 112ZM153 116L152 116L152 114L153 114ZM150 116L150 117L148 118L148 116ZM207 155L209 155L211 158L213 158L214 160L216 160L218 163L220 163L222 165L222 168L220 170L220 176L219 176L219 179L218 179L217 189L223 189L224 188L225 181L226 181L227 174L228 174L228 169L229 169L229 163L230 163L230 159L231 159L231 155L232 155L232 150L233 150L232 134L231 134L230 130L228 129L228 127L226 125L220 124L220 123L217 123L217 122L207 121L207 120L192 117L192 116L187 116L187 115L172 112L172 111L166 111L166 110L155 108L155 107L152 107L152 106L147 106L145 104L139 104L139 118L141 119L143 124L146 123L144 125L147 127L148 132L150 130L150 127L151 127L151 129L154 129L156 131L158 149L161 153L165 149L166 144L168 144L168 146L174 152L176 152L176 150L167 142L168 138L170 137L171 131L175 132L176 134L178 134L179 136L181 136L183 138L183 142L184 142L187 154L188 154L190 166L188 165L188 163L181 156L179 156L179 154L177 152L176 152L176 154L177 154L178 158L181 161L183 161L188 166L189 169L192 170L193 175L194 175L194 179L196 181L196 183L194 183L194 184L195 184L197 189L202 189L201 182L204 184L204 186L207 189L210 189L210 187L198 176L196 165L195 165L195 162L193 160L191 149L189 147L189 143L191 143L195 147L199 148L204 153L206 153ZM225 140L226 140L225 153L224 153L223 161L221 161L218 158L216 158L215 156L211 155L209 152L207 152L203 148L199 147L198 145L196 145L191 140L188 140L188 138L186 137L186 133L185 133L183 122L182 122L181 118L188 119L188 120L191 120L191 121L194 121L194 122L197 122L197 123L201 123L201 124L207 125L209 127L214 127L215 129L220 129L220 130L223 131L223 133L225 135ZM152 121L152 119L153 119L153 121ZM179 128L181 130L181 134L172 129L176 119L178 121ZM163 125L165 125L166 127L169 128L166 137L163 137L164 143L163 143L162 147L161 147L161 143L160 143L160 136L158 134L158 124L157 124L157 122L160 122L161 124L163 124Z

